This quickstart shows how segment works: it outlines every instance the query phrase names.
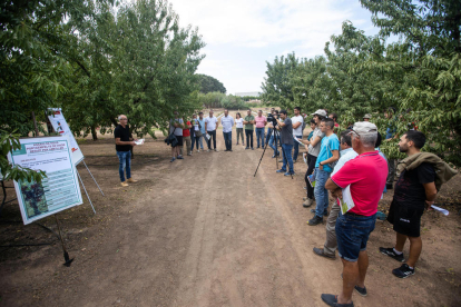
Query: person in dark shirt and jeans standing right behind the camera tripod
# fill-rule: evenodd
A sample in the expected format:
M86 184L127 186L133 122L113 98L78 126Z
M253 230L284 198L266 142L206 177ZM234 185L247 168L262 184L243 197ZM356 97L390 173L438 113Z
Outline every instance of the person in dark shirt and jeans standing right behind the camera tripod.
M285 172L285 176L295 175L293 169L293 158L292 158L292 150L294 145L293 139L293 125L292 119L287 116L286 110L282 110L279 112L281 118L275 118L277 125L281 127L281 143L283 150L283 166L277 172ZM288 165L290 170L286 171L286 165Z

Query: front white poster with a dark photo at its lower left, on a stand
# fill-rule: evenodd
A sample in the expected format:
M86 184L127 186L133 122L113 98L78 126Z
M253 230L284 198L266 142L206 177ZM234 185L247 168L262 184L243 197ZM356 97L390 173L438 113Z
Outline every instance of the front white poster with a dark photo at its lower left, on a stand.
M21 149L8 155L13 166L47 174L41 184L14 181L22 220L35 220L81 205L80 186L69 136L20 139Z

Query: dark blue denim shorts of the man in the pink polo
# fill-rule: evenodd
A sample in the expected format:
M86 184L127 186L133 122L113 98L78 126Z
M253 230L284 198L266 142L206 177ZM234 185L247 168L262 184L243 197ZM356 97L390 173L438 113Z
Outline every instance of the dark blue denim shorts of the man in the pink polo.
M366 250L370 234L374 230L376 214L364 216L341 215L336 220L337 251L344 260L355 263Z

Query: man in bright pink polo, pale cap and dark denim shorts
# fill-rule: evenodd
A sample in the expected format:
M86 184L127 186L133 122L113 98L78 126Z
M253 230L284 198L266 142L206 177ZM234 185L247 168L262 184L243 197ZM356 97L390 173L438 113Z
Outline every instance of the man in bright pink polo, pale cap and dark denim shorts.
M355 205L336 220L337 250L343 261L343 290L339 296L322 294L323 301L330 306L354 306L354 289L366 296L366 242L374 230L377 202L388 177L388 162L374 150L376 126L366 121L355 122L351 137L352 148L359 156L347 161L325 185L339 198L342 198L342 190L350 186Z

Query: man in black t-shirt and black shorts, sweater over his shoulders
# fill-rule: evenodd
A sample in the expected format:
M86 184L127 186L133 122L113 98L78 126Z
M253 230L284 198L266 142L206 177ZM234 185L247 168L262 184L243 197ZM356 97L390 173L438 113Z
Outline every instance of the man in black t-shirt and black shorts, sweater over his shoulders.
M424 142L425 136L422 132L408 131L400 138L399 149L412 156L420 152ZM380 251L398 261L405 263L402 250L406 238L410 240L409 259L400 268L392 270L392 274L399 278L406 278L414 274L414 265L422 250L421 216L424 209L429 209L434 204L435 196L435 171L428 162L421 162L411 170L403 170L395 184L388 220L394 226L396 242L393 248L380 247Z

